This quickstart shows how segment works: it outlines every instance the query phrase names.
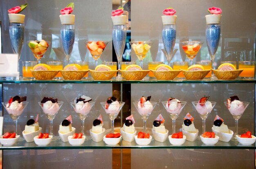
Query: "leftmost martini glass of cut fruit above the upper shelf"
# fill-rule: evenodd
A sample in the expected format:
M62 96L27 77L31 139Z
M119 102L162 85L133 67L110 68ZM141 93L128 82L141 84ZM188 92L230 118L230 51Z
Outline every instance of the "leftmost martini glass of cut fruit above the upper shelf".
M45 44L43 41L38 41L38 40L30 40L27 41L27 45L29 46L29 48L31 49L31 52L34 54L34 57L36 57L38 64L41 63L41 58L43 57L43 55L45 54L47 48L49 47L49 43L50 42L46 42L47 44ZM37 43L37 44L36 44ZM33 46L31 45L33 44Z

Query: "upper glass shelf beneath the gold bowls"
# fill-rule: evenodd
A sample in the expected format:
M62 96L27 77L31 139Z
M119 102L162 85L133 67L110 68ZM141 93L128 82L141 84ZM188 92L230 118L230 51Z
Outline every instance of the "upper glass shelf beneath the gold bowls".
M106 80L97 81L93 79L86 80L0 80L0 83L256 83L256 80L138 80L138 81L116 81Z

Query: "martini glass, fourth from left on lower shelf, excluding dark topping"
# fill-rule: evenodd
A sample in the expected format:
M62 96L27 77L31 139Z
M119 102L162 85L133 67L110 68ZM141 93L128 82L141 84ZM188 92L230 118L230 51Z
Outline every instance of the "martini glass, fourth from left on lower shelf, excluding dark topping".
M106 109L106 107L108 106L108 108L111 106L113 106L114 110L108 110ZM122 109L124 105L124 102L119 101L118 103L106 103L106 102L101 102L101 106L102 108L105 110L105 112L108 114L109 119L111 120L111 133L115 133L114 131L114 121L117 118L117 115L119 114L120 110Z

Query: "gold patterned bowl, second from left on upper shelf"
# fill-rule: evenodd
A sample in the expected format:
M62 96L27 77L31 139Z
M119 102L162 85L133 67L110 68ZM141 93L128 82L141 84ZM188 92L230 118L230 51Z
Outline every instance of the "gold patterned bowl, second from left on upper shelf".
M89 70L61 70L65 80L81 80Z

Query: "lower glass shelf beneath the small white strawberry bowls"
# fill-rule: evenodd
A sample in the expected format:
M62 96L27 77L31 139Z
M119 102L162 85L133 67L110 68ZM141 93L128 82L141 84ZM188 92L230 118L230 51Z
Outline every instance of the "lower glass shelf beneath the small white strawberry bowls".
M52 141L47 146L38 146L34 142L27 143L22 140L13 146L1 146L1 150L12 149L256 149L255 144L241 145L238 141L229 141L228 143L218 141L216 145L205 145L201 140L185 141L183 145L171 145L168 139L161 143L152 140L149 145L137 145L135 141L126 142L121 140L117 145L106 145L103 141L94 142L92 140L85 141L82 145L72 146L68 142L63 143L61 140Z

